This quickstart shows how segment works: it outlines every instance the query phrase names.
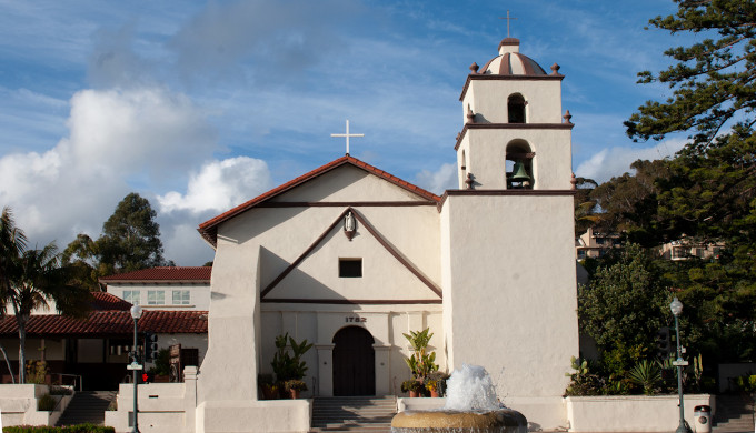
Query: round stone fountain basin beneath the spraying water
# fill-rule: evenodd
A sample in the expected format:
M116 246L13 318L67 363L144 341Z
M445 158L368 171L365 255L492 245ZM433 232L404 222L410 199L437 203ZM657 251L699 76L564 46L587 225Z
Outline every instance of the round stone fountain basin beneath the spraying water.
M496 411L406 411L391 420L394 433L496 432L526 433L525 416L509 409Z

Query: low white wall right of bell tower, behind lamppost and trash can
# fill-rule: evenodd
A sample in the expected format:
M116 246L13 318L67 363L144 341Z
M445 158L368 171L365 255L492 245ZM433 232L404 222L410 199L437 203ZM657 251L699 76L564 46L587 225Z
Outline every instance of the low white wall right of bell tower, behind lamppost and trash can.
M565 397L570 432L674 432L679 425L677 395ZM693 427L695 406L716 410L709 394L685 395L685 420Z

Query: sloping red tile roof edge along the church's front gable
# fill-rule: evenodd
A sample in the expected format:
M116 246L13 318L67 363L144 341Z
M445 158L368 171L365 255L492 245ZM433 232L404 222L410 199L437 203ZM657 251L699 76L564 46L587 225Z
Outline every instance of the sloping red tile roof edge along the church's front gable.
M260 204L260 203L262 203L262 202L265 202L265 201L267 201L267 200L269 200L269 199L271 199L271 198L273 198L278 194L281 194L286 191L289 191L290 189L292 189L295 187L298 187L298 185L300 185L305 182L308 182L309 180L317 178L317 177L319 177L324 173L327 173L327 172L329 172L329 171L331 171L331 170L334 170L338 167L341 167L344 164L351 164L354 167L362 169L362 170L367 171L368 173L372 173L372 174L375 174L379 178L382 178L382 179L385 179L385 180L387 180L387 181L389 181L389 182L391 182L391 183L394 183L398 187L401 187L405 190L412 192L412 193L415 193L415 194L417 194L417 195L419 195L419 197L421 197L421 198L424 198L428 201L434 201L434 202L438 203L441 200L440 197L434 194L432 192L426 191L420 187L414 185L414 184L411 184L407 181L404 181L404 180L401 180L401 179L399 179L399 178L397 178L392 174L389 174L389 173L387 173L382 170L379 170L379 169L377 169L377 168L375 168L375 167L372 167L372 165L370 165L366 162L358 160L357 158L345 155L345 157L341 157L337 160L334 160L334 161L331 161L331 162L329 162L325 165L321 165L321 167L310 171L309 173L302 174L299 178L292 179L289 182L286 182L286 183L284 183L279 187L276 187L272 190L270 190L266 193L262 193L262 194L256 197L255 199L252 199L252 200L250 200L246 203L239 204L238 207L231 209L228 212L221 213L220 215L199 224L199 229L197 229L197 230L202 235L202 238L205 238L212 245L216 245L216 242L217 242L216 236L218 234L218 225L221 222L228 221L231 218L233 218L233 216L236 216L236 215L238 215L238 214L240 214L245 211L248 211L249 209L252 209L256 205L258 205L258 204Z

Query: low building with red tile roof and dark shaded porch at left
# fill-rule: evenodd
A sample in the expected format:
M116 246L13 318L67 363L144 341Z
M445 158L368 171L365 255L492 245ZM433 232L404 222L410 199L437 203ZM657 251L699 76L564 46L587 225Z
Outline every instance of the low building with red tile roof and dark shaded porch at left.
M132 304L111 293L93 292L91 305L84 318L32 314L26 326L27 360L47 361L53 380L64 373L64 377L81 377L84 389L115 390L128 373L128 352L133 344ZM140 335L157 334L160 348L173 344L193 348L200 360L207 351L207 311L146 310L137 325ZM14 374L18 341L16 316L0 318L0 342L7 349ZM10 382L4 362L0 363L0 375L3 383Z

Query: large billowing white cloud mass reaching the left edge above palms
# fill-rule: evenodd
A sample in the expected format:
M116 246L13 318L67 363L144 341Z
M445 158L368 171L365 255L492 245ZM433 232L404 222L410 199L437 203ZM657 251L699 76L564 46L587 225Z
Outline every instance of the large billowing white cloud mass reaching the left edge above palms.
M13 209L31 244L97 236L118 201L139 192L136 183L156 189L183 179L191 159L217 145L202 113L162 89L84 90L70 104L69 137L43 152L0 158L0 204Z

